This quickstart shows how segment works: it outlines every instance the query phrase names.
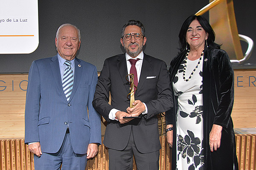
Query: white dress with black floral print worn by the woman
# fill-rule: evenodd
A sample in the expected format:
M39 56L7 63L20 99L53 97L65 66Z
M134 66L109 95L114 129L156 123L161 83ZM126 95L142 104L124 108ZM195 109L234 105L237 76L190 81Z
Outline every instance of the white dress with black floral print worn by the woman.
M199 59L187 59L185 78L195 69ZM203 59L189 81L183 80L185 59L181 62L173 80L175 95L178 96L177 111L177 170L203 170Z

